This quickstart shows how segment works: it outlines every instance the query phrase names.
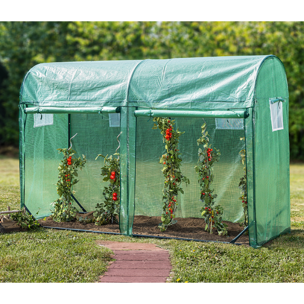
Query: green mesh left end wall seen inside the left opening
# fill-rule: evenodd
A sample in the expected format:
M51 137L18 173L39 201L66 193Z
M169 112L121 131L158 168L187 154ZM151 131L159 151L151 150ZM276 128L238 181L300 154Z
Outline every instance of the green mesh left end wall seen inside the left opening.
M34 128L34 116L26 116L24 204L39 218L50 215L57 198L56 184L61 156L57 148L68 143L68 116L54 115L54 125ZM21 189L23 191L23 189Z

